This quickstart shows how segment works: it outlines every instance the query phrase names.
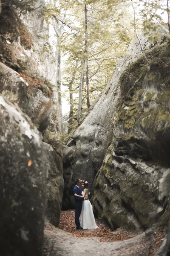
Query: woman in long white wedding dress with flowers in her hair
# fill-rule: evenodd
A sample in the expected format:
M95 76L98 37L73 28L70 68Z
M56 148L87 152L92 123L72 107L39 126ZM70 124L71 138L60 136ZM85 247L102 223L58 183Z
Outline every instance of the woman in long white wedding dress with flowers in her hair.
M76 193L74 194L75 196L79 198L84 198L84 201L82 203L82 217L80 221L80 226L83 229L96 229L98 228L96 225L96 221L94 219L94 214L93 214L93 208L88 200L88 182L82 182L84 183L84 188L83 188L83 195L77 195Z

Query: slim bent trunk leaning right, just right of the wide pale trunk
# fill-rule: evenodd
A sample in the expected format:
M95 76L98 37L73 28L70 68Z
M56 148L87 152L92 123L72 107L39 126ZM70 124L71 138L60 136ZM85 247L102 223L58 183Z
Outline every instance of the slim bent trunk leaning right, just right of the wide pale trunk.
M73 76L72 79L69 83L69 93L70 93L70 112L69 112L69 119L68 119L68 134L71 132L72 130L72 123L73 123L73 108L74 108L74 100L73 100L73 88L72 85L74 83L74 79L75 79L75 75L76 75L76 71L77 71L77 66L78 66L78 61L76 61L76 66L73 72Z

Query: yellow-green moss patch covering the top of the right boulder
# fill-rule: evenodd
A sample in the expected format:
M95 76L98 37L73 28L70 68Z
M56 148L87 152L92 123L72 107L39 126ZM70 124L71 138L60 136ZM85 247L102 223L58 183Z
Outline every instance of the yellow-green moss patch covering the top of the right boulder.
M140 57L122 74L119 79L122 100L117 104L115 125L123 122L124 128L133 129L135 123L140 122L144 128L156 129L159 122L170 122L167 109L170 99L169 47L164 43L147 51L149 66L144 57ZM153 91L153 87L158 93ZM149 102L156 105L149 106Z

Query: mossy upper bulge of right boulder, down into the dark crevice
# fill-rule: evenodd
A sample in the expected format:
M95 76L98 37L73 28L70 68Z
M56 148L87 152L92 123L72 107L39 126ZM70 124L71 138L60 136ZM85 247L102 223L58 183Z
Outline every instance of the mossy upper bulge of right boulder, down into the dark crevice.
M144 58L139 58L122 74L119 80L122 102L118 104L113 128L120 142L136 140L136 145L143 145L136 146L138 150L136 148L132 156L139 154L143 159L147 157L167 164L170 164L169 48L167 43L153 48L147 52L149 66L144 64Z

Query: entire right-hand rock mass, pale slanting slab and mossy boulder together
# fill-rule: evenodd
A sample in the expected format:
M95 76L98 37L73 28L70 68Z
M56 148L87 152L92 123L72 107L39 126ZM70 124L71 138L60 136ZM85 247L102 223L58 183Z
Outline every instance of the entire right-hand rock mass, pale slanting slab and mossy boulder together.
M169 218L169 42L167 31L157 34L156 43L141 35L149 65L137 39L131 42L64 150L63 206L73 204L73 180L88 180L94 212L112 229L145 229Z

